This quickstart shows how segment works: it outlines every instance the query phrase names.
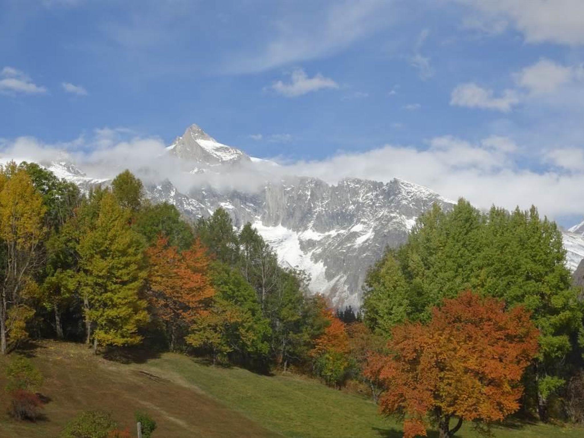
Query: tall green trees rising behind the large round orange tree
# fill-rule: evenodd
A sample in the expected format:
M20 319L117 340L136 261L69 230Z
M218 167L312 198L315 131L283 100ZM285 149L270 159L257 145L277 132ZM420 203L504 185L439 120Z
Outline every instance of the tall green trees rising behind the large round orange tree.
M564 384L584 328L561 232L535 207L481 213L464 200L447 212L434 206L419 218L406 244L388 251L370 270L365 284L364 319L385 333L404 316L427 321L432 307L468 288L529 310L540 330L531 376L539 415L547 418L547 400Z

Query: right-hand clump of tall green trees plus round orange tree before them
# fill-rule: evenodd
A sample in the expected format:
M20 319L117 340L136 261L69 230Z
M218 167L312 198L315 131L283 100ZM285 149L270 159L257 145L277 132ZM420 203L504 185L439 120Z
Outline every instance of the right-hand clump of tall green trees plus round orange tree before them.
M459 296L461 291L474 294ZM372 356L367 370L388 389L384 412L407 414L409 436L423 430L420 411L411 409L416 402L437 425L455 417L501 420L517 409L543 421L581 420L584 306L578 295L565 265L561 232L554 222L540 218L535 207L512 212L492 207L484 213L464 199L450 211L434 206L419 217L404 245L387 249L371 267L364 285L364 323L389 339L389 353ZM485 308L490 312L485 314ZM515 315L512 325L503 323L502 312L507 318ZM536 349L530 341L533 333ZM508 345L513 338L514 346ZM507 347L511 353L501 356ZM450 362L437 359L446 354L451 354ZM484 361L489 356L499 361ZM408 363L405 357L418 362ZM425 370L420 365L424 360L432 361ZM454 364L458 371L450 369ZM505 378L510 370L511 380ZM479 378L478 372L492 374ZM406 378L413 380L406 384ZM516 391L506 401L501 388L493 392L493 382L503 381ZM472 392L471 383L475 390L491 391L491 404L497 400L513 409L505 415L506 408L492 409ZM428 391L447 397L430 402L420 395ZM441 436L451 436L447 425L443 429Z

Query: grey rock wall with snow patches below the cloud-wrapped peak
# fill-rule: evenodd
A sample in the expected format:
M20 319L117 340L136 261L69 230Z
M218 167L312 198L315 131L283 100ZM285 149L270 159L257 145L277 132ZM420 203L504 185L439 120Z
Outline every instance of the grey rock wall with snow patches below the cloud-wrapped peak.
M434 202L451 206L431 190L399 179L345 179L328 185L316 178L287 178L256 193L197 187L188 196L167 181L148 187L148 193L193 219L222 207L235 226L251 222L281 263L304 269L311 276L311 290L337 307L359 307L367 268L386 246L405 242L420 213Z

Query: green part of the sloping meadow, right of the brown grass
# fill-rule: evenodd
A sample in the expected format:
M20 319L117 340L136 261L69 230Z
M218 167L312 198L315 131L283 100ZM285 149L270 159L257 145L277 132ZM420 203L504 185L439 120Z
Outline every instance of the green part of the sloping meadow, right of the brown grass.
M178 354L166 354L147 366L176 374L267 429L288 437L401 437L401 427L379 415L377 406L359 395L325 387L299 376L260 376L238 368L208 367ZM581 437L584 429L515 424L495 427L496 437ZM436 433L429 433L436 436ZM457 433L475 437L469 425Z

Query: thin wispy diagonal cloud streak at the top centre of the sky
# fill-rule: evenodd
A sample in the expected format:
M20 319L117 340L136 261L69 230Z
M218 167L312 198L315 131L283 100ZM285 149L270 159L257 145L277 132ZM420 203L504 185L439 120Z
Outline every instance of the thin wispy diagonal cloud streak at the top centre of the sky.
M324 8L311 7L283 14L274 20L269 42L258 53L231 54L230 72L252 73L337 53L392 22L393 1L343 0ZM321 3L322 4L322 3Z

